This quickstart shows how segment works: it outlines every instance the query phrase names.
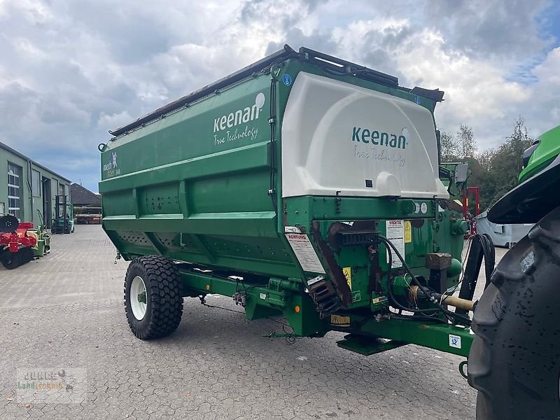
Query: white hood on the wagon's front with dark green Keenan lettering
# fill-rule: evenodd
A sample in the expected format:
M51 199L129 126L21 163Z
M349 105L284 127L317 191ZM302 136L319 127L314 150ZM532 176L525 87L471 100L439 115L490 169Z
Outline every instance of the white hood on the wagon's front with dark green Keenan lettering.
M282 122L282 196L449 198L430 111L299 73Z

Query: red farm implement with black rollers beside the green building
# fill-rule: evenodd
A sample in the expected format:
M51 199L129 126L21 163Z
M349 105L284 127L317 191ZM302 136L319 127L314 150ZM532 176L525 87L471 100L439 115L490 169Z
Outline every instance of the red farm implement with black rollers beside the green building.
M50 251L50 237L33 223L19 222L8 214L0 216L0 262L14 269Z

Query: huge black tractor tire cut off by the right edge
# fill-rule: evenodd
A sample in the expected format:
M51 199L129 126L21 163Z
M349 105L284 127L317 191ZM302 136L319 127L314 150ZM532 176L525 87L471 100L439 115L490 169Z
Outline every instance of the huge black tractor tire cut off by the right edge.
M472 320L477 420L560 419L560 207L502 258Z

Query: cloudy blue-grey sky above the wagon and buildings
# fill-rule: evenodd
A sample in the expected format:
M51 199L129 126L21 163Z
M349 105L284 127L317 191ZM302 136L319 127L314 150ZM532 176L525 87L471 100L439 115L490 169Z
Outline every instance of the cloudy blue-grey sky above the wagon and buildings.
M479 150L560 124L558 1L0 0L0 141L97 191L107 130L286 42L439 87Z

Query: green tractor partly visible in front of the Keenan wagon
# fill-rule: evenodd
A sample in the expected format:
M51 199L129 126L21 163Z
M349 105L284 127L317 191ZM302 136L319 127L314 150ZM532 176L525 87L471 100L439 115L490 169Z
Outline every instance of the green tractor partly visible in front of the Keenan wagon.
M536 223L502 258L472 319L477 419L560 419L560 126L523 157L493 223Z

